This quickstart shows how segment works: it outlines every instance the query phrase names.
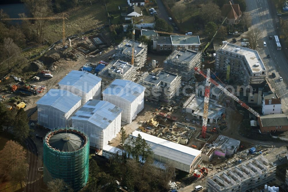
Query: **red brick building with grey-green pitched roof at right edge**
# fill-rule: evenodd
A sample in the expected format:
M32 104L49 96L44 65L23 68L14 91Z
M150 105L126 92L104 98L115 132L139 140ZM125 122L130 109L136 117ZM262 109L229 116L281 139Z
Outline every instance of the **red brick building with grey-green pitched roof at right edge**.
M288 131L288 117L285 114L263 115L258 118L261 133Z

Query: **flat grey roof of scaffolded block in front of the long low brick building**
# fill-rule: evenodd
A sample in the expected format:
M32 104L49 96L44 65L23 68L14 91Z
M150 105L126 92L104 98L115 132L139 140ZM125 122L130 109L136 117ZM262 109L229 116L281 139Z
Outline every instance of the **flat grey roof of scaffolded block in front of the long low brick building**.
M185 63L190 63L194 57L198 54L197 51L193 50L175 50L170 56L168 57L167 60L173 60L173 61L178 61L178 62L185 62ZM165 61L164 61L165 62Z

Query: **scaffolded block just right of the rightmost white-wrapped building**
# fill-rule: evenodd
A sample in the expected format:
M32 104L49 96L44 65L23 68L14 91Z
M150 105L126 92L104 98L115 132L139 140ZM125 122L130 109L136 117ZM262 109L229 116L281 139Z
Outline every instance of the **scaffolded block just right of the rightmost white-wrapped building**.
M166 71L148 74L142 80L142 85L146 87L145 98L156 102L169 101L179 90L180 84L181 76Z

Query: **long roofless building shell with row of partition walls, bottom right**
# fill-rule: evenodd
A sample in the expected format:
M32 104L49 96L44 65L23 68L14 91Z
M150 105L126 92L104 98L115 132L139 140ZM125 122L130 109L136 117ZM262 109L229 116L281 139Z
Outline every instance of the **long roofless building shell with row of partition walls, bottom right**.
M207 178L208 192L247 191L273 180L276 166L257 156Z

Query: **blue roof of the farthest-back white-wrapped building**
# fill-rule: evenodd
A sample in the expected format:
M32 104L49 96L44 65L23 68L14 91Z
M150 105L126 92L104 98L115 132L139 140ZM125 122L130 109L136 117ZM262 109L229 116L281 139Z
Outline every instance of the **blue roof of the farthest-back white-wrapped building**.
M84 93L88 93L99 82L101 82L101 80L101 78L89 72L73 70L67 74L58 84L73 86L76 89L83 91Z

